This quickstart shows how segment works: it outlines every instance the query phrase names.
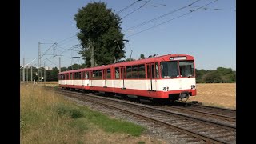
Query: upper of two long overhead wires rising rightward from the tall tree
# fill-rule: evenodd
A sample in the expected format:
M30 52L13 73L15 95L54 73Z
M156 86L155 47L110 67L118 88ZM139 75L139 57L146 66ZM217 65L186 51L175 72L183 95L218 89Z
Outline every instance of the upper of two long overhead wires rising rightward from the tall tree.
M137 27L139 27L139 26L144 26L144 25L146 25L147 23L154 22L154 21L156 21L156 20L158 20L158 19L160 19L160 18L166 17L166 16L169 15L169 14L173 14L173 13L177 12L178 10L182 10L182 9L185 9L186 7L192 6L194 3L199 2L199 1L200 1L200 0L197 0L197 1L195 1L195 2L190 3L190 5L182 6L181 8L178 8L177 10L173 10L173 11L170 11L169 13L162 14L162 15L156 17L156 18L150 19L149 21L146 21L146 22L142 22L142 23L140 23L140 24L138 24L138 25L136 25L136 26L132 26L132 27L126 29L126 30L130 30L130 29L133 29L133 28L137 28ZM124 30L124 31L126 31L126 30Z

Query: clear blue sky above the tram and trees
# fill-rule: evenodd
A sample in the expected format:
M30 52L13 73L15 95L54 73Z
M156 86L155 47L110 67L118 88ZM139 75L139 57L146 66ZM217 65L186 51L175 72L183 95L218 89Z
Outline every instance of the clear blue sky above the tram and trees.
M20 65L82 64L74 15L89 0L21 0ZM236 70L235 0L95 0L122 18L126 58L189 54L198 70Z

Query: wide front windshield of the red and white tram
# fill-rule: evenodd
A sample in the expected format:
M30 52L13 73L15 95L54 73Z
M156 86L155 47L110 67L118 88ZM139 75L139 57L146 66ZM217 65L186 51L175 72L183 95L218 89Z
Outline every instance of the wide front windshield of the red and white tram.
M162 78L194 76L194 61L161 62Z

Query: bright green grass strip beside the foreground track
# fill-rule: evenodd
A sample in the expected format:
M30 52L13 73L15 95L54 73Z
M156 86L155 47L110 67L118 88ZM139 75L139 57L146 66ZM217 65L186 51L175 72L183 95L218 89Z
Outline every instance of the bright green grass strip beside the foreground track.
M58 104L55 106L55 110L61 116L67 115L70 118L74 118L74 123L77 123L77 121L79 123L92 123L109 133L124 133L133 136L140 136L142 131L146 130L146 128L130 122L110 119L106 115L89 110L84 106L66 106L63 104ZM76 118L79 119L76 120Z

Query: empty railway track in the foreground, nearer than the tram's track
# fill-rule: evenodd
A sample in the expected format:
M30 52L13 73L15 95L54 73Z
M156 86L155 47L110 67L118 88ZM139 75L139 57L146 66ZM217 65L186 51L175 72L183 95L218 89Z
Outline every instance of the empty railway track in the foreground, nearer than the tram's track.
M122 111L122 113L133 115L146 122L153 122L158 126L162 126L163 129L174 130L179 135L178 137L182 135L187 139L187 142L236 143L236 126L232 124L213 122L206 118L192 116L194 114L177 113L174 110L163 110L159 107L126 102L116 98L98 97L93 94L82 94L74 91L56 90L56 92ZM167 107L170 108L170 106ZM188 110L186 113L191 113L191 111Z

